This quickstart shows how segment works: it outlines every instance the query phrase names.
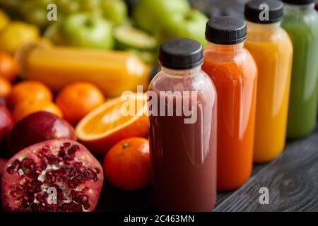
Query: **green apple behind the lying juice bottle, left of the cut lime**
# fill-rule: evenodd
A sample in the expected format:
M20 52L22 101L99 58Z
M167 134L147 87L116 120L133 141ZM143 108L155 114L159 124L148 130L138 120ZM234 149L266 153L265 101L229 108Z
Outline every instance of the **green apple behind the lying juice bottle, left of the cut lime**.
M71 14L61 24L61 34L69 45L112 49L112 23L87 12Z

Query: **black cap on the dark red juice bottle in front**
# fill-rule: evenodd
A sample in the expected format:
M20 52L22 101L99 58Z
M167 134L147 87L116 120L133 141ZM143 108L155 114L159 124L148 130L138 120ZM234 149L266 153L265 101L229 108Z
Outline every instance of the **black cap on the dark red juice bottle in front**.
M202 45L196 40L177 38L163 42L159 50L160 64L168 69L193 69L203 63Z

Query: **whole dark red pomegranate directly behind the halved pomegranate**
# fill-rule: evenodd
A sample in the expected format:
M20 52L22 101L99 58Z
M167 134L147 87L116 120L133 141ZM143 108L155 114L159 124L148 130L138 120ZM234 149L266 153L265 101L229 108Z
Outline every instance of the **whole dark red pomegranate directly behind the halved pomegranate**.
M76 141L73 127L55 114L35 112L18 121L8 133L6 140L8 157L35 143L56 138Z

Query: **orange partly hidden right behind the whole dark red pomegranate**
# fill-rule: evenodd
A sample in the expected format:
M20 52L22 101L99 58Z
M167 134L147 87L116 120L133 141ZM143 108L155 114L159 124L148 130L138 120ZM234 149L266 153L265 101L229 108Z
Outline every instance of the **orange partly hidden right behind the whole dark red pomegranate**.
M19 121L29 114L40 111L50 112L56 114L58 117L62 117L61 110L53 102L47 100L24 100L18 102L16 107L14 107L13 118Z

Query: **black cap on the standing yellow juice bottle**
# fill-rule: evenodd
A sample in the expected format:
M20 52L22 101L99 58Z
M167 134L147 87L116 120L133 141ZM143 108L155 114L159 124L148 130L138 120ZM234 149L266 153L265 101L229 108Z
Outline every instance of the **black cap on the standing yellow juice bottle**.
M263 14L266 7L269 9L269 17ZM252 0L245 4L245 18L252 23L276 23L283 20L283 3L277 0Z

